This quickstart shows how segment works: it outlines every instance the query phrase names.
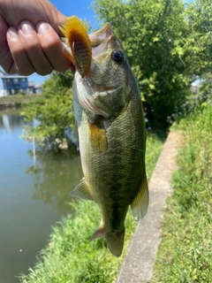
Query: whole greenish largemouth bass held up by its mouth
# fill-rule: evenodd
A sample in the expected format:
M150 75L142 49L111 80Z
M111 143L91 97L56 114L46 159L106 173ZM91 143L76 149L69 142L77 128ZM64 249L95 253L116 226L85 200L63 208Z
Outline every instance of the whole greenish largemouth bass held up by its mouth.
M148 210L140 89L110 23L89 34L87 45L80 36L72 49L72 57L78 58L72 95L74 136L84 177L71 195L97 203L101 221L90 241L104 237L111 254L121 256L129 206L137 221ZM89 65L84 65L87 73L81 72L80 60Z

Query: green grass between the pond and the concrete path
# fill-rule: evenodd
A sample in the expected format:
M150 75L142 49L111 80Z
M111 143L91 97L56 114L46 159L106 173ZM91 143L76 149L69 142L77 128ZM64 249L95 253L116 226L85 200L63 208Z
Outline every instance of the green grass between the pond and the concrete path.
M147 172L151 176L157 158L163 149L163 141L156 134L148 134ZM111 283L115 282L136 222L131 213L125 223L125 248L119 258L112 256L104 239L89 242L99 226L100 212L93 202L79 201L71 204L75 218L63 218L53 228L49 245L28 275L21 276L22 283Z

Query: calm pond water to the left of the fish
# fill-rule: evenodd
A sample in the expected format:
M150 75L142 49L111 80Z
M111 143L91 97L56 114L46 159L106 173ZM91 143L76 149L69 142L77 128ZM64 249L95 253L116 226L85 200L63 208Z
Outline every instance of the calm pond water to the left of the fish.
M19 111L0 111L0 282L18 283L47 243L51 226L72 213L70 191L82 178L79 156L44 155L19 139Z

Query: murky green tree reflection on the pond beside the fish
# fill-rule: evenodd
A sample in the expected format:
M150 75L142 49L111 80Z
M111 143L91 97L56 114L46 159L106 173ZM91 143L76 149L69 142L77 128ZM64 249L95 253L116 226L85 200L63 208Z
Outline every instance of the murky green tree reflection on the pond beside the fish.
M27 153L33 158L33 150ZM58 213L70 212L70 192L82 178L81 164L78 154L61 153L43 154L36 151L36 167L27 168L27 174L34 176L33 200L42 200L45 204L53 204Z

